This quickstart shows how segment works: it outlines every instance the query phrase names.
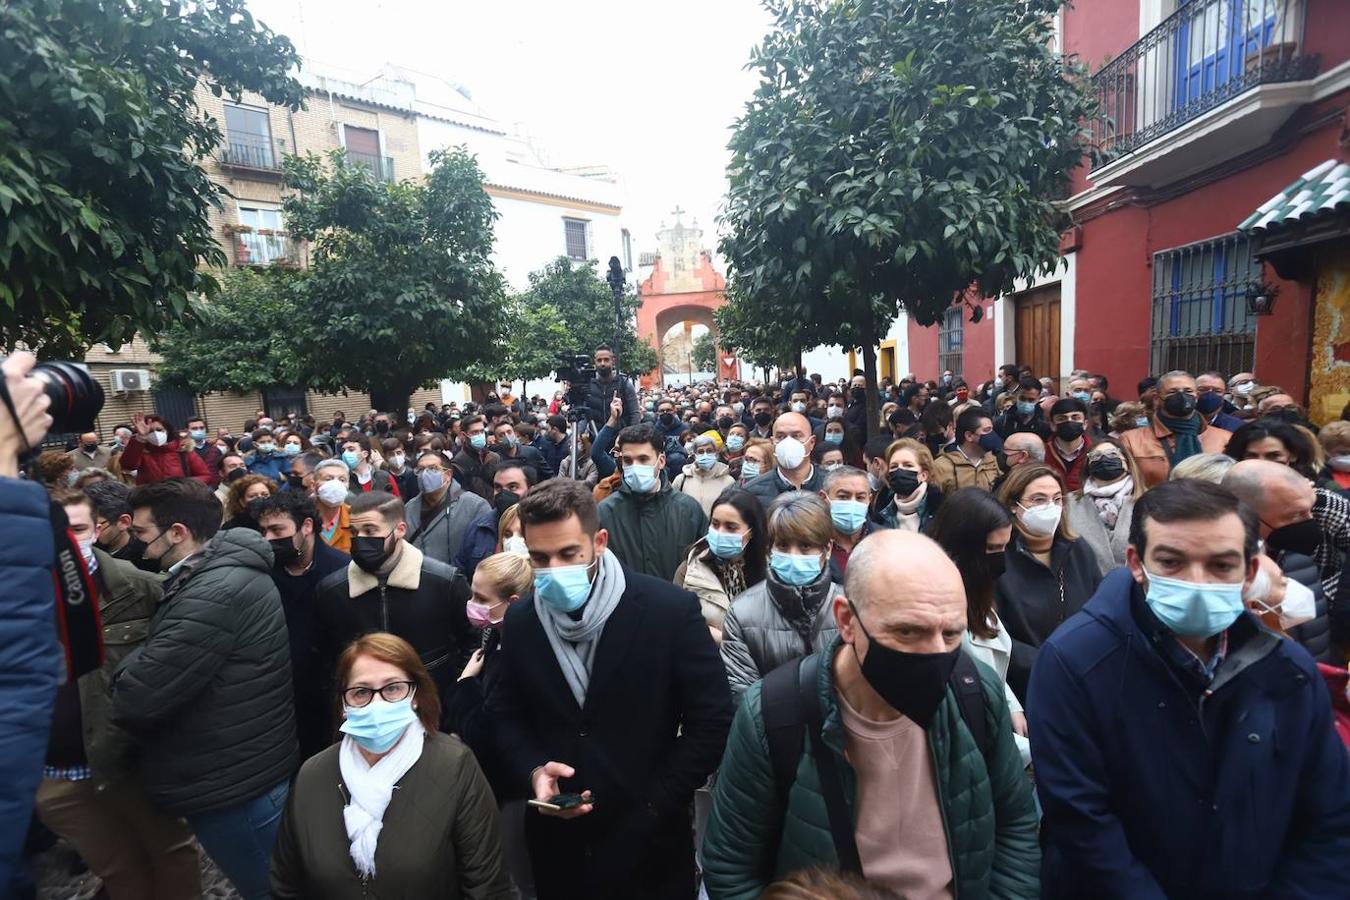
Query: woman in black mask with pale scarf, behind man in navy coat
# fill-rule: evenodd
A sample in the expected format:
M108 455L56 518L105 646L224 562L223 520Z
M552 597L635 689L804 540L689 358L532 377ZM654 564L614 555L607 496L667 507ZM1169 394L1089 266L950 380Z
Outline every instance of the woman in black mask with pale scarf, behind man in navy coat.
M1065 498L1065 514L1069 528L1092 548L1102 575L1125 565L1130 519L1142 494L1143 483L1130 451L1110 437L1094 444L1087 452L1081 487Z

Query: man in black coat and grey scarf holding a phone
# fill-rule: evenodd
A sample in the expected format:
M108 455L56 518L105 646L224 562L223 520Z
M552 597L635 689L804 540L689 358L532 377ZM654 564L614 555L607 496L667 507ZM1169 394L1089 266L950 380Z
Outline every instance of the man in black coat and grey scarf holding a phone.
M520 517L535 596L506 613L497 746L531 797L583 797L526 814L539 897L693 897L690 803L732 722L698 600L618 563L585 484L532 490Z

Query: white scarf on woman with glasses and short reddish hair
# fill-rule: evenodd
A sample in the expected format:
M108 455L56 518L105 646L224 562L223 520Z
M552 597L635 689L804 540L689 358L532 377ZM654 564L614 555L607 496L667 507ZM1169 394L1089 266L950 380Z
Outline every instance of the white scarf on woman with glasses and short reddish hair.
M421 722L413 719L398 743L377 760L375 765L366 762L351 735L342 739L338 769L351 796L351 803L342 810L342 818L347 824L347 839L351 841L351 861L356 864L356 872L362 877L375 874L375 845L385 827L385 810L394 796L394 785L421 758L425 735Z

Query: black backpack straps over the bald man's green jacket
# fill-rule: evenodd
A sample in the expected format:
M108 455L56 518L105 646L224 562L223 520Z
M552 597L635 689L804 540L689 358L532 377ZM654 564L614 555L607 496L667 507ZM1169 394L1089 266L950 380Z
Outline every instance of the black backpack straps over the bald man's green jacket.
M787 793L796 780L796 766L802 760L802 733L811 741L811 756L821 775L821 791L825 795L825 811L830 820L830 837L840 870L863 874L857 843L853 838L848 804L844 801L844 788L834 754L821 738L824 711L819 692L815 690L819 672L819 653L811 653L801 660L792 660L764 676L760 687L760 712L764 716L764 737L768 739L768 756L774 764L774 784L779 801L786 806ZM990 758L992 735L984 718L984 690L980 685L980 672L975 660L965 653L956 657L956 668L948 679L956 695L957 708L965 727L971 730L980 756Z

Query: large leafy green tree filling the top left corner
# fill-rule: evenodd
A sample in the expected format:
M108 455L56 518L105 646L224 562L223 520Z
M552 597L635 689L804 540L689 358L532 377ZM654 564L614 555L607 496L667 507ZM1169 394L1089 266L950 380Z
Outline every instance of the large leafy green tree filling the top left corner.
M224 264L221 143L193 101L255 90L300 108L290 40L244 0L0 3L0 336L81 356L193 310Z

